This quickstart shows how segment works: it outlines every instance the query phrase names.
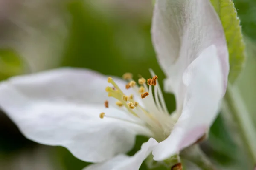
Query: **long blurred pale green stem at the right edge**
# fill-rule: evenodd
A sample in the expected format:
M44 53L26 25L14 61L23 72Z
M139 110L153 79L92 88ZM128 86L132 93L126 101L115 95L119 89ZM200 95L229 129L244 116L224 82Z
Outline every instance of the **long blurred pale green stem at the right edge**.
M243 140L244 146L247 147L247 152L253 159L253 163L256 164L256 131L238 88L228 85L224 99L236 125L239 127L241 140Z

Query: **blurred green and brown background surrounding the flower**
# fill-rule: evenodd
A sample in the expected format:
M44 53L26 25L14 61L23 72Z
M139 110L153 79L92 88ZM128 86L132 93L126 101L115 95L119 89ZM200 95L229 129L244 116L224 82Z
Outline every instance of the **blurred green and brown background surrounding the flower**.
M245 69L237 84L256 125L256 1L234 3L247 44ZM0 13L1 80L61 66L143 77L150 77L152 68L160 82L164 79L151 44L151 0L3 0L1 5L8 9ZM164 97L173 111L174 96ZM250 170L249 158L230 128L221 113L201 147L224 170ZM145 141L138 136L128 154ZM81 170L87 164L63 147L25 139L0 113L0 170ZM141 170L146 169L143 164Z

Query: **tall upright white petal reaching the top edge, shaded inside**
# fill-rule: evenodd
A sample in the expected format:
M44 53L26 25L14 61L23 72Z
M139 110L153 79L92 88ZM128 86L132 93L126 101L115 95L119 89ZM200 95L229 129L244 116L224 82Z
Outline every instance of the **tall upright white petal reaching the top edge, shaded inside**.
M158 62L167 77L165 90L175 94L178 111L182 109L186 93L183 72L210 45L217 48L226 89L227 44L221 22L209 0L157 0L151 34Z

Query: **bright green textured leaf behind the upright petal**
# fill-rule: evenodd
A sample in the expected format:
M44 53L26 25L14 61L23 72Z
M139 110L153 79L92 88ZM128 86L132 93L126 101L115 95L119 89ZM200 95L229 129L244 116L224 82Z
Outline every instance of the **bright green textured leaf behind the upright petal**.
M229 82L233 84L239 76L245 59L245 45L240 20L232 0L211 0L224 28L230 59Z

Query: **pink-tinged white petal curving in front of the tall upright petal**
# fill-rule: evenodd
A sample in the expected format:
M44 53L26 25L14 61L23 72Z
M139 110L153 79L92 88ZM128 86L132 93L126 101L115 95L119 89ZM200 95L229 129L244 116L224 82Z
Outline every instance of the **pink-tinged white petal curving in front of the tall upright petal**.
M218 114L223 94L223 74L217 48L206 48L186 69L184 107L170 136L153 150L163 160L193 144L209 129Z

